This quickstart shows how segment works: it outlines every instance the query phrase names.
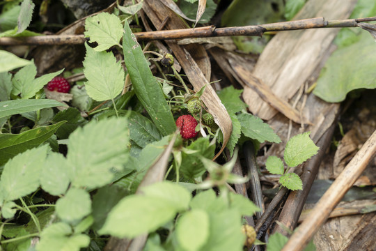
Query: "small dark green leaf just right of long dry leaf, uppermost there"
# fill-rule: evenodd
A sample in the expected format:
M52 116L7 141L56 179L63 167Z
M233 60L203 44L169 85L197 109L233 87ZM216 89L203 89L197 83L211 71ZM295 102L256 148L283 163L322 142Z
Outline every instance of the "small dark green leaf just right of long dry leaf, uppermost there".
M233 86L228 86L218 92L218 97L221 99L229 114L246 109L246 103L240 99L242 92L243 90L237 90Z

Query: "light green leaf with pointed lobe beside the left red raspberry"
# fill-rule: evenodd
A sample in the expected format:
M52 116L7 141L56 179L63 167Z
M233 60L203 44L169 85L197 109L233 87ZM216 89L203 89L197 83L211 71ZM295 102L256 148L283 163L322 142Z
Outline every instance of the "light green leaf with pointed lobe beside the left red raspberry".
M15 76L13 77L13 95L21 94L21 97L24 99L31 98L36 93L45 86L51 79L59 75L63 72L62 70L58 70L55 73L49 73L46 75L42 75L42 77L36 77L36 66L31 64L30 66L25 66L21 70L19 70Z

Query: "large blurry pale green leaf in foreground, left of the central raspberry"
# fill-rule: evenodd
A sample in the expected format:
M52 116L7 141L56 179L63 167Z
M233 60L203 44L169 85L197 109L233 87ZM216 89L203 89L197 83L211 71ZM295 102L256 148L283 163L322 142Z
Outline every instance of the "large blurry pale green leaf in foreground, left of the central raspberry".
M68 167L74 187L99 188L113 179L113 169L122 170L128 160L127 119L91 121L69 137Z

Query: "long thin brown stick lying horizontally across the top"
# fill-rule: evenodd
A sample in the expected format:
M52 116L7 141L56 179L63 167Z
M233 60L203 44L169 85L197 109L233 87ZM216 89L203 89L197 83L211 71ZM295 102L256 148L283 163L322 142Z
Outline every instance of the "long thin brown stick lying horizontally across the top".
M376 17L353 20L325 21L324 17L306 20L278 22L250 26L216 28L205 26L195 29L175 29L166 31L146 31L134 33L137 40L169 40L182 38L205 38L214 36L263 36L267 31L293 31L297 29L357 27L359 22L376 21ZM0 38L0 45L79 45L86 41L84 35L49 35L19 38Z

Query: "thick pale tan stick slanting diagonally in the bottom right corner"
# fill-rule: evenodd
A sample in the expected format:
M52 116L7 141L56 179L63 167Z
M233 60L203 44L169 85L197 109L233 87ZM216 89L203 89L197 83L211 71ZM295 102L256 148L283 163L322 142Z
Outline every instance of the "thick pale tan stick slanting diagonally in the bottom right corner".
M295 234L292 234L282 251L303 250L316 231L327 220L333 208L343 198L347 190L351 188L357 178L366 169L368 162L376 153L376 130L370 136L358 153L343 169L327 192L321 197L308 218L301 223Z

